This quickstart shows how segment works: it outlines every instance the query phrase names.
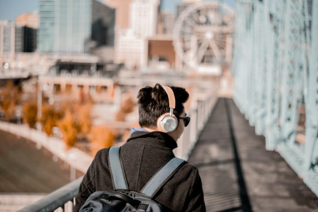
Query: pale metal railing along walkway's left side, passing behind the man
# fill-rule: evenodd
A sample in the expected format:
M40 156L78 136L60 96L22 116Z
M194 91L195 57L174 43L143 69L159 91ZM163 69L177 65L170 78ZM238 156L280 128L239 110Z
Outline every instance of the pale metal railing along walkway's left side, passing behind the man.
M218 97L215 92L204 101L199 101L196 109L187 112L187 116L191 118L190 124L184 129L180 140L178 140L178 148L174 149L177 157L188 160L192 150L194 149L197 140L206 125L211 112L217 102ZM83 177L66 184L65 186L57 189L49 195L43 197L37 202L30 204L19 212L48 212L59 209L60 211L72 211L75 205L75 196L78 193L79 185Z

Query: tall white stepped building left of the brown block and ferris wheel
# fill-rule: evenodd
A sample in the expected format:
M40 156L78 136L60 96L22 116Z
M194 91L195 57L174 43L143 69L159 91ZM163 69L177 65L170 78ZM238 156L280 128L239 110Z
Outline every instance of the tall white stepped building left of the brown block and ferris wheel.
M129 28L116 28L115 62L127 68L147 66L147 38L157 33L159 0L134 0L129 4Z

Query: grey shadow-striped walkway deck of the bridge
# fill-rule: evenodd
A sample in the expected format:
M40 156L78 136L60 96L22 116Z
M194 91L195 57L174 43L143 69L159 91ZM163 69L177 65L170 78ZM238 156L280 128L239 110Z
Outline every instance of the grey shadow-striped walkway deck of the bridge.
M207 211L318 211L318 198L232 99L220 98L188 162L197 166Z

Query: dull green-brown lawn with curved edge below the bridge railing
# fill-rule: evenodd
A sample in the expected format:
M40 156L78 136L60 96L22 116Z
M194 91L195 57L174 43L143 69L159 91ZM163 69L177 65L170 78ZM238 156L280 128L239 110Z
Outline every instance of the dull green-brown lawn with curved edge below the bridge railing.
M52 158L34 142L0 130L0 194L50 193L69 183L69 165ZM82 175L77 171L76 177Z

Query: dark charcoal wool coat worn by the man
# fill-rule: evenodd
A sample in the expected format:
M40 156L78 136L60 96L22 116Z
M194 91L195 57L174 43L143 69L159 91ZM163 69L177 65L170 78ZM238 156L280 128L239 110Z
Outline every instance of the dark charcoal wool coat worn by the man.
M172 149L176 147L176 141L166 133L133 132L120 151L129 190L139 192L156 171L175 156ZM94 191L113 190L107 157L108 148L97 152L79 186L73 211L79 211ZM205 211L198 169L184 163L153 199L164 211Z

